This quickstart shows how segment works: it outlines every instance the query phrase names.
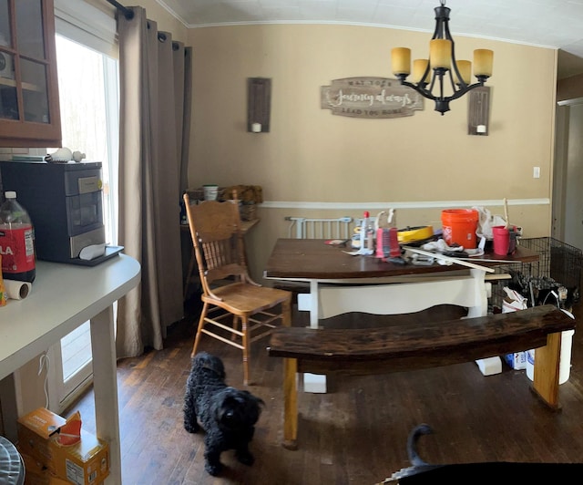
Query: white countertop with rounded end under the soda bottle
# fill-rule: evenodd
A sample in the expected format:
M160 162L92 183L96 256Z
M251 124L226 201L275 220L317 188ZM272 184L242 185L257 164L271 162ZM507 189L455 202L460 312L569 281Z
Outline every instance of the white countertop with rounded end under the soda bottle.
M96 266L37 261L28 296L0 307L0 379L127 294L139 275L125 254Z

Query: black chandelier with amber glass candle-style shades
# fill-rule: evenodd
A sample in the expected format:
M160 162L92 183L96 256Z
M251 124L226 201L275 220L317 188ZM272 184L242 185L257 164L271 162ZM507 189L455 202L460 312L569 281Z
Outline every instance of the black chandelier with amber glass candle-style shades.
M411 49L394 47L391 51L393 74L402 85L414 88L424 98L435 101L435 111L442 116L449 111L449 102L461 98L467 91L484 86L492 76L494 53L489 49L474 51L474 76L477 82L470 84L472 63L468 60L455 60L454 39L449 32L449 12L445 0L435 7L435 32L429 42L429 59L413 61L412 81L406 80L411 74ZM430 74L433 70L433 74ZM445 77L449 77L451 94L445 96ZM434 90L436 94L434 94Z

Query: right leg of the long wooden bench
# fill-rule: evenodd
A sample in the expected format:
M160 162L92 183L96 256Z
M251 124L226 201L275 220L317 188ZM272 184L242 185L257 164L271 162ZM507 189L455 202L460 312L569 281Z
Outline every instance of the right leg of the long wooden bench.
M558 372L561 352L561 334L547 335L547 345L538 347L535 356L533 392L549 408L558 409Z

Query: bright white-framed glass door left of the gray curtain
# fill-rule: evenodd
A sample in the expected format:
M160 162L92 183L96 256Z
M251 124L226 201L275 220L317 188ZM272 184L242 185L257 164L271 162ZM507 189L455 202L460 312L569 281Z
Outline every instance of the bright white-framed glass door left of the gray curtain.
M119 131L118 60L111 56L115 53L111 35L112 27L115 33L115 21L82 4L77 0L55 3L63 146L85 153L85 160L102 162L106 242L115 245ZM95 31L87 32L87 26ZM104 41L104 37L108 40ZM89 323L66 335L60 345L51 347L49 357L49 407L62 412L92 382Z

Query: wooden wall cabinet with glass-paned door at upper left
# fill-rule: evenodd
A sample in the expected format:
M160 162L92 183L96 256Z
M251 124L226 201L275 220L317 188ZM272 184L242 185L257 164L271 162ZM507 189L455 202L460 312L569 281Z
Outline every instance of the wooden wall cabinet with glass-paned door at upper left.
M53 0L0 0L0 147L60 147Z

